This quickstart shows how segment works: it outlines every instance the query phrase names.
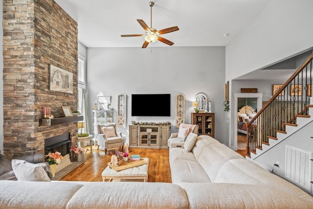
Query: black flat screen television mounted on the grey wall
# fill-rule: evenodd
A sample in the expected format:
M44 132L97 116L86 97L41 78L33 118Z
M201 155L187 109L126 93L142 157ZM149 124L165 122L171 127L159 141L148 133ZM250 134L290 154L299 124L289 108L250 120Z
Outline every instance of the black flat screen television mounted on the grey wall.
M132 116L171 116L171 94L132 94Z

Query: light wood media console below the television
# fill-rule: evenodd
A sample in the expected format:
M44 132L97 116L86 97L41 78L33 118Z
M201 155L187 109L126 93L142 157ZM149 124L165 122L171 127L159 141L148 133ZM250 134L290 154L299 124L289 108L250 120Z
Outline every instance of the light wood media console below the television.
M169 125L130 125L129 146L136 148L168 148Z

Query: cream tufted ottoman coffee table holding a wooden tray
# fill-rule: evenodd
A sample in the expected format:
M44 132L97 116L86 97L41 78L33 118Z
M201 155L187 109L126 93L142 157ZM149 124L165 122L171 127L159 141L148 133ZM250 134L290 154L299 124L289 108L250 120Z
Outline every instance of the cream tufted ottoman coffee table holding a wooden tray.
M106 179L109 179L109 182L111 182L113 179L143 179L143 182L147 182L149 159L141 158L140 161L145 161L147 163L121 171L115 171L108 165L102 172L102 180L105 181ZM123 166L123 164L120 166Z

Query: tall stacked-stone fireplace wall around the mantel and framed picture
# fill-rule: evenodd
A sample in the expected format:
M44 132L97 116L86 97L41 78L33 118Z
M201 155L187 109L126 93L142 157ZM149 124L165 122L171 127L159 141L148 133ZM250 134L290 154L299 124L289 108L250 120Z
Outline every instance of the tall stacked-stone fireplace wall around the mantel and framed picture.
M77 23L53 0L3 0L3 155L44 153L44 139L70 133L77 122L40 126L43 107L64 117L77 108ZM73 73L73 93L49 90L49 64Z

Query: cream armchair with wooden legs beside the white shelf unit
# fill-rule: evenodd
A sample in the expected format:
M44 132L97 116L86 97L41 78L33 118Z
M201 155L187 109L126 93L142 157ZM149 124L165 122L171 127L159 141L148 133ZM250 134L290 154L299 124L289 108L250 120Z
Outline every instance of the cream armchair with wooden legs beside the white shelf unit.
M116 132L115 123L106 123L97 126L98 135L97 135L97 144L98 150L99 146L103 147L106 154L108 149L113 149L117 147L124 146L124 139L120 132Z

